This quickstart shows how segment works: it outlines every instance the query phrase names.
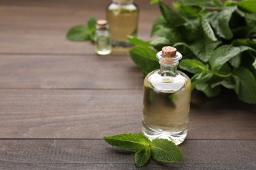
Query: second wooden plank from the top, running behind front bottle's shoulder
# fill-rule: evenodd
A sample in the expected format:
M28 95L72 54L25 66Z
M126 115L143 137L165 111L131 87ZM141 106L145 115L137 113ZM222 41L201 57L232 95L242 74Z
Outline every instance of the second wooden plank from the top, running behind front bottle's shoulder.
M0 55L0 88L142 89L129 56Z

